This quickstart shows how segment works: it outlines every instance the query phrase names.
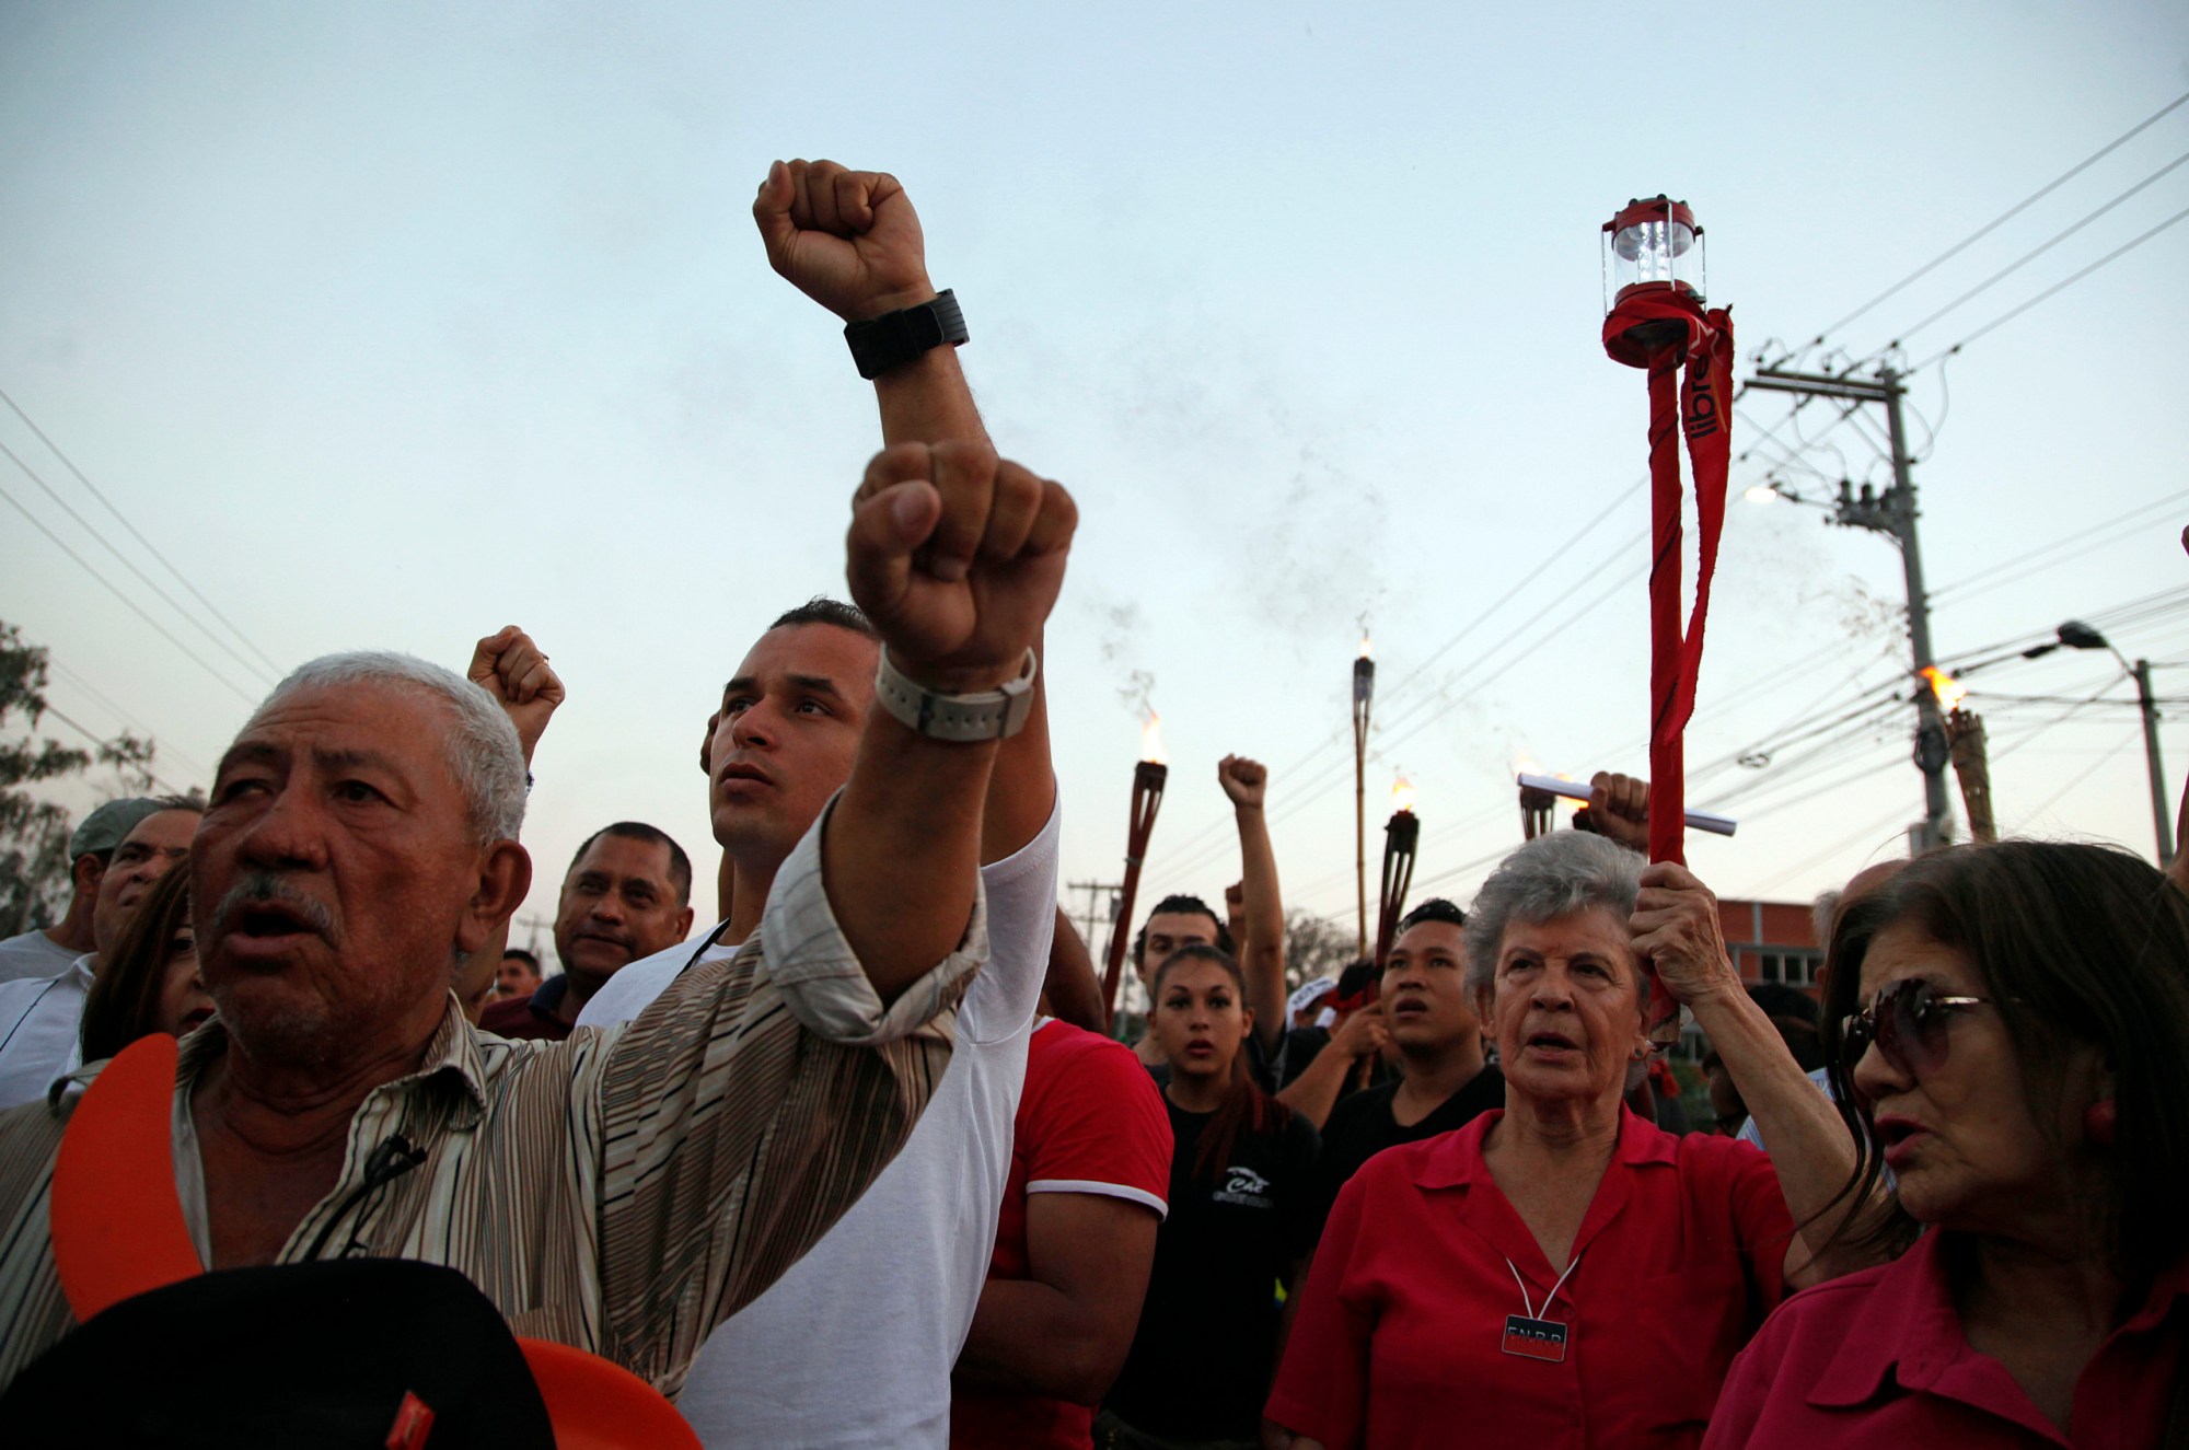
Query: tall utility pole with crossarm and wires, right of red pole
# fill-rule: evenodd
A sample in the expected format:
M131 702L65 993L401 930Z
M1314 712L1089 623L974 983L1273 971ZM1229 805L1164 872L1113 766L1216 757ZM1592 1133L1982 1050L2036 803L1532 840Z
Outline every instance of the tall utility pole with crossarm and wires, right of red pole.
M1841 480L1839 499L1830 513L1832 523L1841 528L1867 528L1891 537L1900 545L1900 572L1909 596L1911 670L1924 681L1915 692L1915 769L1922 771L1924 819L1911 832L1913 850L1909 852L1920 856L1946 843L1950 808L1946 804L1946 725L1937 714L1937 694L1922 675L1937 659L1931 655L1931 596L1922 583L1922 548L1915 541L1915 477L1909 471L1907 429L1900 423L1900 399L1907 394L1907 388L1900 385L1900 375L1891 368L1878 368L1876 379L1762 368L1749 379L1749 388L1839 399L1843 403L1880 403L1885 407L1885 427L1893 449L1893 486L1876 493L1869 484L1863 484L1861 495L1856 495L1854 484Z

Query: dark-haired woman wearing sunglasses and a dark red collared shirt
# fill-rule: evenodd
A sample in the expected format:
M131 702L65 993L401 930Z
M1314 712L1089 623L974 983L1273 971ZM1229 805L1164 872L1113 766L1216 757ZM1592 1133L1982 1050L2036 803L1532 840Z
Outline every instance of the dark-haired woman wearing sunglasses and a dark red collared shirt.
M1907 1251L1780 1308L1705 1446L2189 1446L2189 898L2101 845L1948 850L1830 959L1850 1194L1893 1174L1845 1235Z

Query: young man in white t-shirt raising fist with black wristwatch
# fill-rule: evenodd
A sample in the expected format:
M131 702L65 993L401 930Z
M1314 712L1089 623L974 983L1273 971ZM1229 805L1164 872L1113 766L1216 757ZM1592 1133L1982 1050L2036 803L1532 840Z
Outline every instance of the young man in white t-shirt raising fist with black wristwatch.
M768 261L847 324L895 318L895 355L854 337L873 377L882 440L987 442L919 217L882 173L777 162L753 204ZM954 309L950 311L954 318ZM924 324L937 326L919 331ZM884 324L884 331L895 322ZM847 329L847 335L858 329ZM876 355L876 346L882 355ZM768 629L722 694L703 764L729 859L729 920L698 953L622 968L580 1027L637 1016L690 962L736 951L775 867L852 769L873 697L876 646L856 611L816 600ZM1046 688L1005 740L981 828L989 966L965 992L957 1049L904 1152L766 1294L722 1323L676 1408L709 1446L933 1446L950 1435L950 1365L987 1277L1011 1167L1011 1119L1049 962L1057 900L1055 778Z

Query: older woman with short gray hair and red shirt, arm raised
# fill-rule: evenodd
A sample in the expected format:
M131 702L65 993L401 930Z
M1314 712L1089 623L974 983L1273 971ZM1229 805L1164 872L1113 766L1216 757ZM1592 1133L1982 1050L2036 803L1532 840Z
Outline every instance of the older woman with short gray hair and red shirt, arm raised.
M1583 832L1530 841L1475 898L1467 975L1506 1108L1344 1187L1267 1419L1294 1450L1445 1446L1456 1424L1482 1443L1696 1446L1762 1316L1854 1266L1804 1242L1845 1216L1839 1115L1740 988L1686 867ZM1622 1106L1657 986L1710 1032L1777 1159Z

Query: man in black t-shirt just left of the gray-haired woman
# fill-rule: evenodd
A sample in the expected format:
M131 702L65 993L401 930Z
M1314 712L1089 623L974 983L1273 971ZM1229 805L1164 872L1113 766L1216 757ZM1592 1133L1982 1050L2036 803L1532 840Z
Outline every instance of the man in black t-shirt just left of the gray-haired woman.
M1399 1080L1331 1108L1322 1126L1318 1222L1362 1163L1504 1106L1504 1075L1482 1060L1482 1025L1467 999L1460 929L1467 913L1436 896L1399 922L1383 964L1383 1023L1399 1049Z

